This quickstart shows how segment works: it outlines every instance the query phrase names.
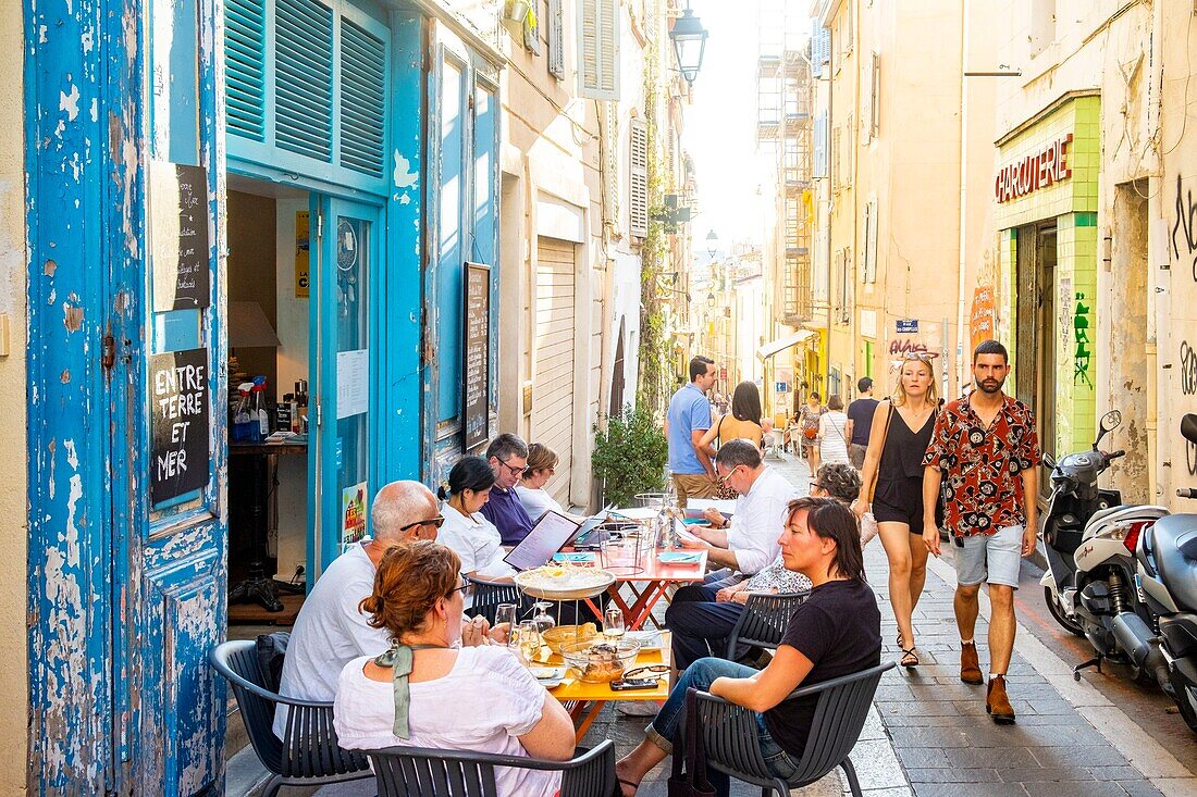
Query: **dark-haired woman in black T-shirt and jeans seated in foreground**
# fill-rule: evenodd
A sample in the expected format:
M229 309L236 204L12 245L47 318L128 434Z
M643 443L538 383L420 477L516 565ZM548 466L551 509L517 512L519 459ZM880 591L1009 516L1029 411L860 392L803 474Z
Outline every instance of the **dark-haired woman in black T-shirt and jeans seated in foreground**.
M773 774L789 778L802 759L819 696L782 700L798 685L830 681L881 662L881 613L864 580L856 516L831 498L800 498L790 501L778 543L785 567L807 576L814 589L790 619L773 661L764 670L722 658L691 664L645 729L644 741L615 765L625 797L634 795L645 773L672 753L688 687L760 712L765 761ZM711 775L725 792L727 780Z

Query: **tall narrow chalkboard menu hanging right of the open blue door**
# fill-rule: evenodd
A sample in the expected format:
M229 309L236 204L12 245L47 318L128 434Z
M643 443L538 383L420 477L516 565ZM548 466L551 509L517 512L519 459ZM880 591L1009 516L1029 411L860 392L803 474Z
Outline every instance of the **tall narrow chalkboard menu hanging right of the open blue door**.
M491 437L491 267L466 263L466 345L462 364L463 448Z

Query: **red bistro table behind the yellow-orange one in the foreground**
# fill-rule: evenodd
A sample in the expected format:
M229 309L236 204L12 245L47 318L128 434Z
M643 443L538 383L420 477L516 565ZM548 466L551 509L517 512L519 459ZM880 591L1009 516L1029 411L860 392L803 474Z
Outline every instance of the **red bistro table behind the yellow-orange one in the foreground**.
M652 616L652 607L666 596L669 585L701 583L706 576L706 550L679 548L669 553L697 554L695 559L670 564L662 562L657 558L662 553L667 552L649 546L646 549L642 548L637 558L636 546L632 542L625 542L621 547L608 548L604 552L603 564L615 577L615 583L607 589L607 594L612 603L624 613L630 631L639 631ZM625 584L633 595L631 606L619 592ZM588 600L587 604L601 621L602 609L593 600Z

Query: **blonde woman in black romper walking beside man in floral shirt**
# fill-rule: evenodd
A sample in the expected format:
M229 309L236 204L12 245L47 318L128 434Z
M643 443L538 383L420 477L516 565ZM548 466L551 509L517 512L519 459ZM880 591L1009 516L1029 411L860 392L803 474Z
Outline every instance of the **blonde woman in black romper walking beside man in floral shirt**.
M923 353L909 355L891 398L874 402L869 446L861 473L861 495L852 505L861 517L873 512L889 559L889 604L898 622L903 667L918 667L911 620L926 583L923 544L923 456L935 428L938 406L935 369ZM855 402L853 402L855 403ZM942 509L936 501L936 528Z

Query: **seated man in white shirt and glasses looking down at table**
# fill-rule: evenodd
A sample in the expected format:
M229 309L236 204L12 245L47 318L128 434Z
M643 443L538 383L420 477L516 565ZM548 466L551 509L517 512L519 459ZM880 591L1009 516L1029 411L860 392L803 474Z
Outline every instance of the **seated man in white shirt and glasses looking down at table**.
M706 549L707 561L753 576L777 558L777 539L785 525L785 507L796 498L794 485L760 458L760 449L752 442L728 440L715 457L715 473L719 481L740 493L736 511L729 523L725 517L707 510L711 528L689 529L695 540L682 540L682 547ZM731 576L717 571L706 578L706 586ZM723 586L728 586L724 584ZM680 596L685 589L678 591ZM676 598L674 598L676 600Z

